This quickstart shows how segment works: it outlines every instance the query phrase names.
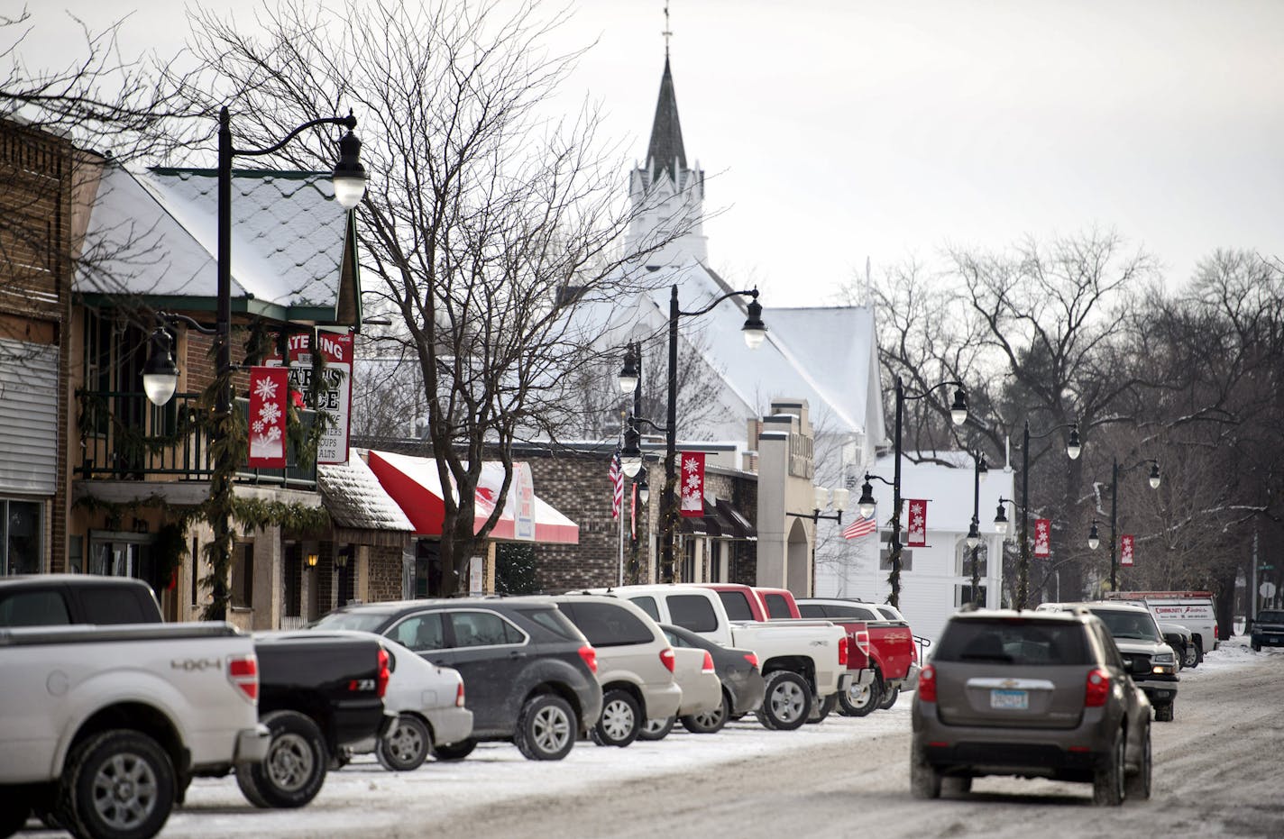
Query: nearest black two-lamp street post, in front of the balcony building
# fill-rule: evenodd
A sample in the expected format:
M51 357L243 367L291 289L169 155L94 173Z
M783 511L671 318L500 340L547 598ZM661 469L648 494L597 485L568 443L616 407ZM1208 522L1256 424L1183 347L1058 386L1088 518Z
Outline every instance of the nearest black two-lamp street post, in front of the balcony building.
M214 471L209 481L209 526L213 530L213 555L212 555L212 586L213 599L205 609L205 620L221 621L227 614L227 570L231 564L232 532L231 532L231 503L232 479L236 471L234 462L235 449L230 445L231 431L231 263L232 263L232 158L235 157L262 157L280 151L288 142L294 140L308 128L318 126L340 126L348 132L339 140L339 162L334 168L333 183L334 198L345 212L351 212L361 203L366 192L366 172L361 165L361 141L353 135L357 127L357 118L348 112L347 117L322 117L311 119L267 149L236 149L232 145L231 117L227 108L218 112L218 239L217 239L217 308L214 328L204 327L185 316L163 316L166 319L180 319L205 335L214 336L216 354L216 384L217 396L214 404L214 434L212 435L214 450ZM163 339L160 336L164 336ZM148 359L143 376L143 387L148 399L153 404L163 405L173 396L178 380L178 369L169 353L168 335L164 327L157 330L153 339L152 357ZM196 558L193 557L193 562Z

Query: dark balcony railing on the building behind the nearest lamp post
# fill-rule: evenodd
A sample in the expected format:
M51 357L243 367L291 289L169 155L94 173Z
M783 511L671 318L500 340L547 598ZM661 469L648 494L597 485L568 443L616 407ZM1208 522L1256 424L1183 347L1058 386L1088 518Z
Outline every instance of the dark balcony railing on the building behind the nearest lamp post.
M157 407L141 393L77 391L80 403L81 459L76 476L114 481L208 481L214 472L205 409L200 395L175 394ZM236 400L245 414L248 404ZM312 412L303 412L309 426ZM284 470L236 472L238 482L270 484L313 489L316 467L300 470L290 463Z

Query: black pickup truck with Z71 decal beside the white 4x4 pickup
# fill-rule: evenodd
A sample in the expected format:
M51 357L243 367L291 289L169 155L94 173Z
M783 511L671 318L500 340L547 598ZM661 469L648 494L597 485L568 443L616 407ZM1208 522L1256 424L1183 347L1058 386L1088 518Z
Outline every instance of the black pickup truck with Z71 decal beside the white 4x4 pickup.
M257 632L259 718L272 735L262 763L236 767L256 807L303 807L343 749L381 738L389 656L379 639L343 632Z

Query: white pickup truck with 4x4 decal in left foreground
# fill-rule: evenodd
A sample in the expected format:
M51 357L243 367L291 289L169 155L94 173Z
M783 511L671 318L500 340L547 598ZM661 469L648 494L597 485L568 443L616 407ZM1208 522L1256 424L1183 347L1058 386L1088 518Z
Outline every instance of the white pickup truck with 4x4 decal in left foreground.
M194 775L263 759L254 643L229 623L0 630L0 836L35 812L145 839Z

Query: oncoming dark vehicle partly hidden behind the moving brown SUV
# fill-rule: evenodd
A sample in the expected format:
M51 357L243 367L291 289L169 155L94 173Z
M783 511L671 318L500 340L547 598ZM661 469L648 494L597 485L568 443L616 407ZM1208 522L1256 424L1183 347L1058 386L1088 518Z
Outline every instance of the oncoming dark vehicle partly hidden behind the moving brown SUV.
M1129 675L1145 691L1154 706L1154 718L1159 722L1172 722L1172 711L1177 702L1177 656L1163 639L1154 614L1144 606L1130 603L1108 603L1091 600L1089 603L1044 603L1040 612L1086 608L1102 618L1106 629L1115 638Z

